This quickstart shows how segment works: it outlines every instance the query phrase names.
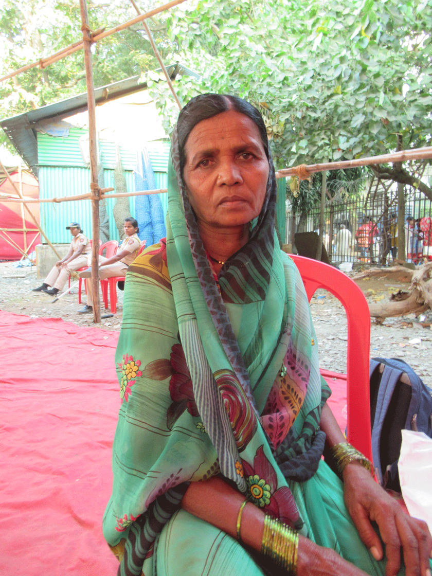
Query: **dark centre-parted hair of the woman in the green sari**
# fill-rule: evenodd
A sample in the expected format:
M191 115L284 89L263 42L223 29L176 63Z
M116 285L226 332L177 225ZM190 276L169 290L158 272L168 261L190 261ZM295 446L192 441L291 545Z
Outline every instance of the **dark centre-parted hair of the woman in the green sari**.
M217 116L222 112L228 112L229 110L234 110L248 116L248 118L256 124L268 158L266 125L264 124L260 112L252 106L252 104L242 100L242 98L229 96L228 94L200 94L199 96L192 98L192 100L185 105L185 107L180 111L179 119L177 120L180 170L182 176L184 165L186 163L184 147L192 129L196 124L202 122L202 120L213 118L213 116Z

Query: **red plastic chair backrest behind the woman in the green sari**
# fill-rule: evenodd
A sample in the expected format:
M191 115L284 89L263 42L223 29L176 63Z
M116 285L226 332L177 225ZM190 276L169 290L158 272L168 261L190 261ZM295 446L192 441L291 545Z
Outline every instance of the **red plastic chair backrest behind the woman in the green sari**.
M365 295L346 274L319 262L290 254L305 285L308 300L324 288L342 302L347 314L347 436L348 441L372 460L370 438L369 351L370 312Z

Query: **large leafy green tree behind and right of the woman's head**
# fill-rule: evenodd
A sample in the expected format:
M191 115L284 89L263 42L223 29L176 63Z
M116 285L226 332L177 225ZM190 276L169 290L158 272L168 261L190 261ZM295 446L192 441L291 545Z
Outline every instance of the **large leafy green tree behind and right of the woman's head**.
M430 145L430 0L213 0L176 10L168 32L205 90L246 97L266 119L279 167ZM158 84L158 91L162 85ZM164 110L166 111L166 110ZM430 161L429 161L430 162ZM419 162L376 173L418 182Z

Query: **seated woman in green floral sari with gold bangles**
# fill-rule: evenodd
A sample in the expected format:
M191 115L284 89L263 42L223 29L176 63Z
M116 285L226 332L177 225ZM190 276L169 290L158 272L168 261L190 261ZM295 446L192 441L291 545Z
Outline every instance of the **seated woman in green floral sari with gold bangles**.
M430 576L427 526L327 406L259 112L191 100L168 177L167 237L129 268L116 357L104 535L119 574Z

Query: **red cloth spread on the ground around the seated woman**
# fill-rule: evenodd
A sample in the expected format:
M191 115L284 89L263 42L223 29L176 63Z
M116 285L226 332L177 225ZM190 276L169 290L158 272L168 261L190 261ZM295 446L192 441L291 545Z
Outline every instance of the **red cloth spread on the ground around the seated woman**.
M0 311L0 574L109 576L118 332ZM346 388L326 373L344 429Z

